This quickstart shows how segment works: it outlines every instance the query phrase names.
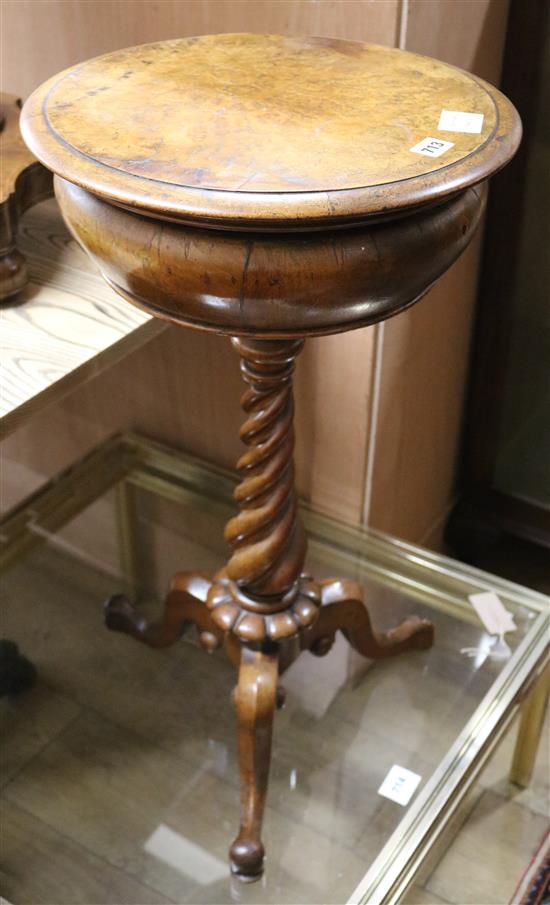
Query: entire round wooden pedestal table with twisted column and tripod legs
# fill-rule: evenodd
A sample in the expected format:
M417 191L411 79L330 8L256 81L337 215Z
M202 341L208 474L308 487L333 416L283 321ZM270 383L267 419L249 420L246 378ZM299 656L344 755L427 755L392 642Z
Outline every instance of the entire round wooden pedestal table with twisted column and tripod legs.
M337 631L374 658L433 641L414 616L380 634L355 582L303 572L296 356L308 336L421 298L470 241L519 120L496 89L414 54L218 35L68 70L35 92L23 128L110 285L159 317L229 334L240 356L245 451L229 561L212 578L177 574L158 622L121 596L106 620L153 647L194 624L206 650L223 645L234 662L241 820L230 857L254 879L280 674L300 651L326 654Z

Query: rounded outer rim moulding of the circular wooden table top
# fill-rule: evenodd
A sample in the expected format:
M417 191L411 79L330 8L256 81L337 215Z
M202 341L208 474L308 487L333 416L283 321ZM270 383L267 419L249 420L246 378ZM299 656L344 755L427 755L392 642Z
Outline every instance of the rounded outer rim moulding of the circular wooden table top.
M215 37L219 39L235 36ZM307 40L309 42L318 40L322 43L321 39ZM171 42L162 43L169 45ZM365 52L373 49L377 52L387 51L388 54L397 53L392 48L382 48L378 45L364 45L359 42L335 43L357 46ZM160 45L141 45L138 48L129 48L125 53L130 54L136 50L157 46ZM402 51L399 53L403 54ZM505 165L521 139L519 116L510 101L498 89L457 67L439 64L430 58L408 52L405 56L420 61L418 65L427 68L437 64L443 67L444 73L449 70L451 74L466 76L481 89L483 96L487 95L490 99L496 111L495 123L494 128L479 146L473 146L471 152L457 161L439 165L433 171L419 172L418 175L390 182L346 188L336 186L330 190L304 188L293 191L235 191L231 185L221 189L171 182L169 167L166 169L166 178L159 180L153 178L151 174L136 175L127 172L121 169L122 164L118 161L118 166L106 164L104 159L100 160L94 156L93 149L89 154L83 153L53 127L47 101L51 92L58 86L66 85L69 79L78 79L84 67L97 64L98 61L105 61L105 65L108 65L109 59L116 57L116 54L107 54L81 66L71 67L44 83L25 104L21 128L27 144L45 166L104 200L128 209L139 209L141 214L181 220L202 227L234 230L269 231L291 228L308 230L354 225L385 215L396 217L425 204L440 203L452 194L484 181ZM120 78L115 81L118 84ZM62 125L63 122L61 120ZM455 133L448 132L440 133L440 137L447 140L454 138L455 141L461 138ZM414 158L415 155L408 156ZM442 160L444 161L444 158ZM434 162L430 161L429 164L433 165ZM157 175L159 172L157 167Z

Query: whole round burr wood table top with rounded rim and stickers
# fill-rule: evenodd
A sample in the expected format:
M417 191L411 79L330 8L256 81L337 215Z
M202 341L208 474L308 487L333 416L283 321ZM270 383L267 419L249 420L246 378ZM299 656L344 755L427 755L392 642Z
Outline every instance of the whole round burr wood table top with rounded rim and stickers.
M512 104L445 63L355 41L221 34L146 44L54 76L24 137L55 173L199 225L342 225L487 178Z

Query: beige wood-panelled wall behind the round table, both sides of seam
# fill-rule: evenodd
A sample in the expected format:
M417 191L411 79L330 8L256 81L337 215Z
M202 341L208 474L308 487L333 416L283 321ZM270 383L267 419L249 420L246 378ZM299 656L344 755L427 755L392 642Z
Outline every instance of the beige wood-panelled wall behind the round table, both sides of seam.
M4 0L3 90L117 47L218 31L313 33L427 53L498 79L505 0ZM479 245L479 243L478 243ZM301 492L350 522L437 543L453 475L478 245L383 327L311 340L297 375ZM4 444L51 474L133 428L230 465L240 382L229 344L171 328Z

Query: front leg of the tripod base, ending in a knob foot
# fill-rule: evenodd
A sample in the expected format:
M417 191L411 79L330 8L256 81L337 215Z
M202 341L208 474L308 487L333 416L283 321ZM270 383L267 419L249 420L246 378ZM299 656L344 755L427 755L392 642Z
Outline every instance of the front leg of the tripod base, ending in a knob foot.
M277 697L278 653L243 647L235 703L241 822L229 850L231 870L242 880L255 880L263 872L262 820L267 794L271 731Z

